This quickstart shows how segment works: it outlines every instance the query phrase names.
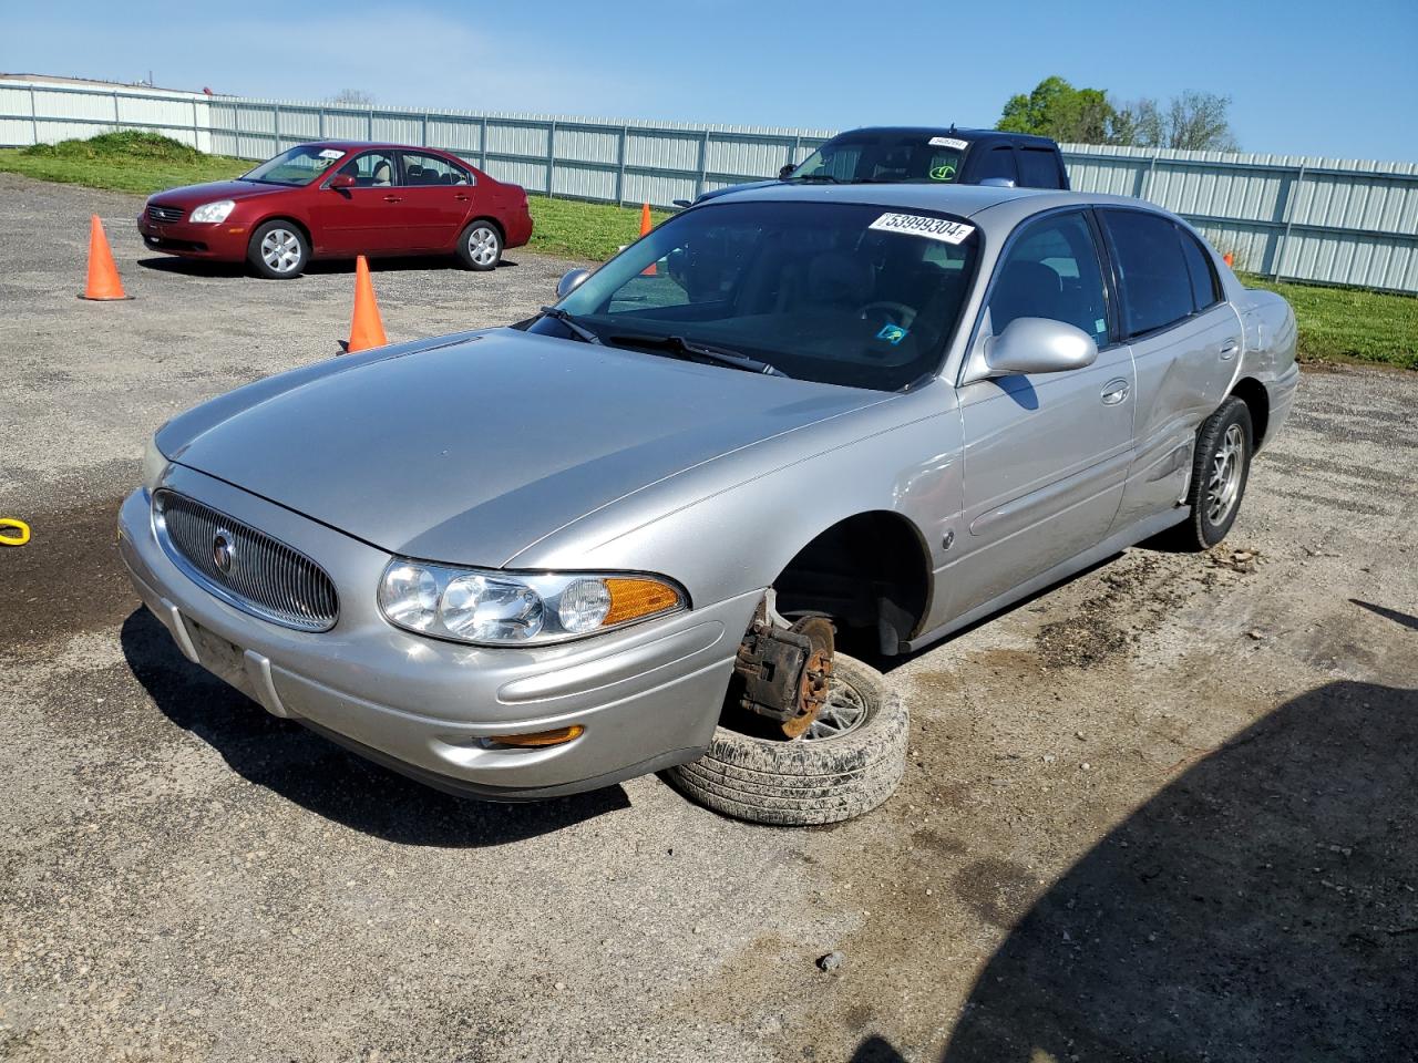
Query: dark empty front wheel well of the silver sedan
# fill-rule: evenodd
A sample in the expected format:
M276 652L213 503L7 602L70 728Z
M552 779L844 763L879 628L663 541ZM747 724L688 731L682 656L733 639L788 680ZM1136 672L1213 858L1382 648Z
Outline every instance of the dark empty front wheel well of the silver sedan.
M858 513L803 547L773 588L788 619L831 617L844 649L889 656L926 615L930 554L905 517Z

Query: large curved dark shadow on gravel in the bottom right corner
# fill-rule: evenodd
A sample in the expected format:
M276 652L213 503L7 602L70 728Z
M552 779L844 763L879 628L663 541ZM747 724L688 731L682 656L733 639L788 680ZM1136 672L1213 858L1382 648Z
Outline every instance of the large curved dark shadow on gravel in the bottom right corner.
M1418 692L1334 682L1197 761L1012 927L943 1063L1414 1059L1415 748Z

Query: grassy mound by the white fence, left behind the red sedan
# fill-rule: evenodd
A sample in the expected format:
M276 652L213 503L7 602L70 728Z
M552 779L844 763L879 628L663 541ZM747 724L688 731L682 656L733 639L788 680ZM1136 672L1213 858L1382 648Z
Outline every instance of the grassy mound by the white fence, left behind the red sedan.
M206 154L157 133L125 129L89 140L0 150L0 170L44 181L149 196L179 184L221 181L254 163Z

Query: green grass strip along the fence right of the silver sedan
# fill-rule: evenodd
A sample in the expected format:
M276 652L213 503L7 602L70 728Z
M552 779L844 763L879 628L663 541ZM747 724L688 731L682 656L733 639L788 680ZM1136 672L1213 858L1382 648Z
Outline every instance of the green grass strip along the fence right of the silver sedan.
M1381 361L1418 369L1418 296L1266 281L1242 274L1249 288L1279 292L1295 308L1302 361Z

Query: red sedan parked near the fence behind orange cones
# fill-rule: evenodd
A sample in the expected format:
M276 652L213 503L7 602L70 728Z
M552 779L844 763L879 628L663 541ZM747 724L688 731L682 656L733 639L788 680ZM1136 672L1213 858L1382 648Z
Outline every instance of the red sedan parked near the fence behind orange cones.
M233 181L149 197L138 231L153 251L247 261L272 279L312 258L452 254L492 269L532 237L527 194L432 147L320 140Z

